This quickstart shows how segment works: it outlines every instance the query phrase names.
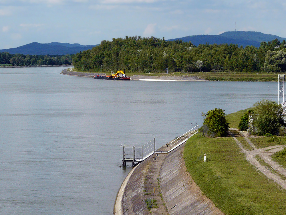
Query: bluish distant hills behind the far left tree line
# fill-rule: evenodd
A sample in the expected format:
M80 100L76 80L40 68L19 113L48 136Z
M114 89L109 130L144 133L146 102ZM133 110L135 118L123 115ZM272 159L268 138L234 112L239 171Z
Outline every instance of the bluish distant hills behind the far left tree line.
M10 54L50 54L50 55L61 55L61 54L76 54L80 51L92 49L96 45L83 46L78 43L37 43L32 42L24 46L19 46L17 48L2 49L0 52L9 52Z

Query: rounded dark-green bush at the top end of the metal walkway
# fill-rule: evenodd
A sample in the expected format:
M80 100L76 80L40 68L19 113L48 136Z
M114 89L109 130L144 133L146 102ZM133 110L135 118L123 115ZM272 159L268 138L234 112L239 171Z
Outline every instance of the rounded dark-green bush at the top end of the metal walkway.
M226 137L228 135L229 123L225 119L225 113L222 109L215 108L209 110L205 116L204 123L200 132L210 137Z

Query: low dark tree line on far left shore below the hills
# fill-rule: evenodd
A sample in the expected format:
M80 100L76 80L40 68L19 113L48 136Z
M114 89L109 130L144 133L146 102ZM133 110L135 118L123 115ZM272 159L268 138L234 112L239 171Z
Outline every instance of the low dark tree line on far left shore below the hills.
M12 66L72 64L72 55L24 55L0 52L0 64L11 64Z

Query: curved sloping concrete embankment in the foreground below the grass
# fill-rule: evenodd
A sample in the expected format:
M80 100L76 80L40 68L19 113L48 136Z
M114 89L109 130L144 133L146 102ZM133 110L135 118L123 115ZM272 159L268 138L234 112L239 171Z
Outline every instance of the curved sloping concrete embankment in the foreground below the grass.
M183 149L184 144L168 154L154 154L132 169L118 192L114 214L150 214L145 200L153 191L158 207L152 214L223 214L186 171Z

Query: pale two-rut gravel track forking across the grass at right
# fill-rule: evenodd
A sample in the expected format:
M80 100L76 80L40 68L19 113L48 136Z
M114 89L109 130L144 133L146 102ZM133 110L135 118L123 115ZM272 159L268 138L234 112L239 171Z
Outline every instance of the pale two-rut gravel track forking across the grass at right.
M235 142L241 149L241 151L245 154L245 157L249 163L251 163L253 166L255 166L259 171L261 171L267 178L273 180L275 183L278 183L281 187L286 189L286 180L281 179L279 174L275 174L271 172L267 167L261 165L259 161L257 161L256 156L258 155L265 163L270 165L277 173L280 173L281 175L286 176L286 169L284 169L281 165L276 163L271 159L271 156L277 152L282 150L286 145L276 145L276 146L269 146L266 148L256 148L255 145L246 137L243 135L245 140L248 142L248 144L253 148L253 150L247 150L243 148L242 144L237 140L236 137L233 137L235 139Z

